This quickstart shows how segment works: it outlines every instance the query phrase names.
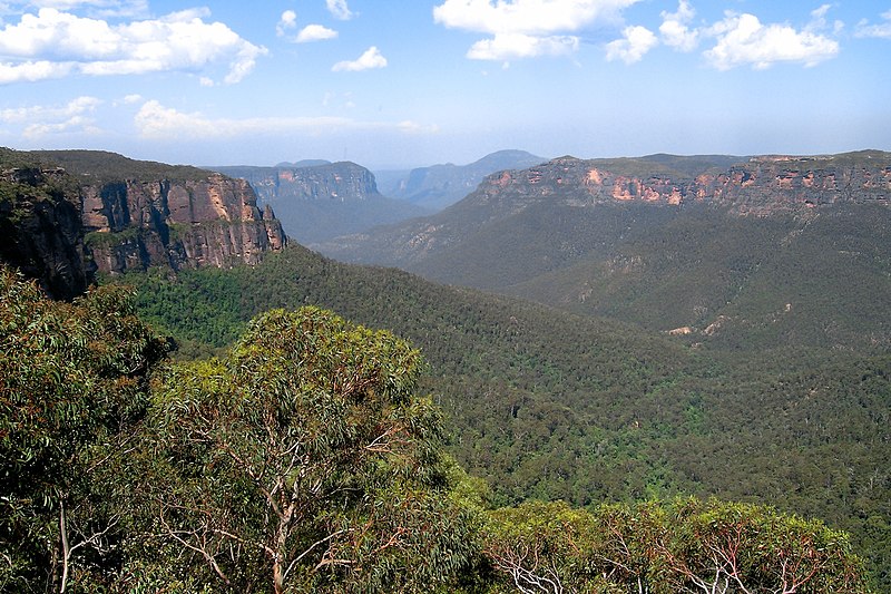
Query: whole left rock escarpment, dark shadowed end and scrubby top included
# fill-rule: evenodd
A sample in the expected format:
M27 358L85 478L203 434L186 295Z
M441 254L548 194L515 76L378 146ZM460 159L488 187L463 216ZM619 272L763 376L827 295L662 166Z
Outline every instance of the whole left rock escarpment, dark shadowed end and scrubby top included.
M111 153L0 148L0 261L56 298L97 271L254 264L287 237L246 182Z

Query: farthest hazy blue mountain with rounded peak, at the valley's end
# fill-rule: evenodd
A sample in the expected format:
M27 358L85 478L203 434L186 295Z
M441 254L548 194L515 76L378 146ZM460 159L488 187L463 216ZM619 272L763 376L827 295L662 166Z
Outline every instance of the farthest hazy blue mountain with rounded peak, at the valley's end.
M491 173L525 169L545 160L525 150L499 150L469 165L449 163L409 172L375 172L375 176L384 195L440 211L473 192Z

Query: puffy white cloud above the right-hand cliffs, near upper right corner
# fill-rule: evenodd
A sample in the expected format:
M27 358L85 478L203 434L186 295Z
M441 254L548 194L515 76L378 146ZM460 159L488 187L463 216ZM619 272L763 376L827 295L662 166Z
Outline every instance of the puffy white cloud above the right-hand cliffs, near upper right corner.
M762 25L754 14L727 13L707 33L715 36L717 43L703 56L718 70L745 65L764 69L781 61L814 66L839 53L838 41L814 30Z

